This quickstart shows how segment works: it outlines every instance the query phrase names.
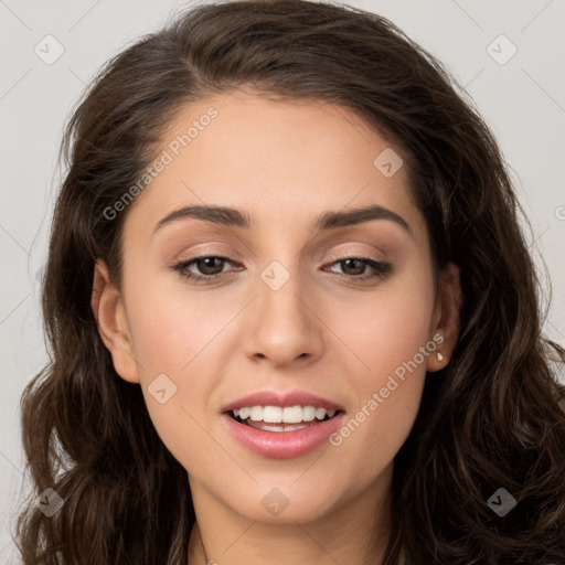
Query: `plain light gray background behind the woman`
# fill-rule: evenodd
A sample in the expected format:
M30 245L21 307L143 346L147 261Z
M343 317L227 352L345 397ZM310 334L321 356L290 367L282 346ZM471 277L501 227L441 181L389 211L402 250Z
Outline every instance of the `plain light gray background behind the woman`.
M15 562L10 529L20 488L29 486L22 475L19 399L46 360L36 274L45 259L60 180L55 166L63 124L107 58L186 4L0 0L1 563ZM544 257L553 280L544 330L565 343L565 1L356 0L350 4L398 24L445 62L476 102L513 170L533 227L532 248ZM47 34L65 50L51 65L34 53ZM503 65L487 51L500 34L518 49ZM492 49L500 51L500 57L510 46L499 41Z

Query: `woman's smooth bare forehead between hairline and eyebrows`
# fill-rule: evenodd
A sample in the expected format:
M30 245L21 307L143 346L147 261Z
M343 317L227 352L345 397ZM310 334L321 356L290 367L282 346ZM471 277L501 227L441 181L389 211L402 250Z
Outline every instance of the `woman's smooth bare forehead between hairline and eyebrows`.
M423 227L398 151L342 107L236 90L181 107L157 153L126 224L213 204L247 210L254 227L310 227L320 212L379 204Z

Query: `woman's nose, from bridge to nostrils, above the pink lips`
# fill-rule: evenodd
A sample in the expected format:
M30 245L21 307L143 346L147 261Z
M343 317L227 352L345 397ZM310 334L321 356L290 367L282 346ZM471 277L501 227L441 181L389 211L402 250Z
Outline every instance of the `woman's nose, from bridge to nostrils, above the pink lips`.
M258 296L247 312L248 330L243 342L246 355L255 361L268 360L276 367L299 359L303 363L318 359L323 350L320 305L298 274L281 271L280 266L266 269L254 290Z

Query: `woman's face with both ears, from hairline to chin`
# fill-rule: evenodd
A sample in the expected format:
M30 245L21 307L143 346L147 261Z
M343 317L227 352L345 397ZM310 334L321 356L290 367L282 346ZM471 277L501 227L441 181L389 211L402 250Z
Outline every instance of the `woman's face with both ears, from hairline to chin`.
M343 108L243 92L183 107L159 151L108 212L127 213L122 285L100 262L93 306L195 504L374 512L456 339L399 157Z

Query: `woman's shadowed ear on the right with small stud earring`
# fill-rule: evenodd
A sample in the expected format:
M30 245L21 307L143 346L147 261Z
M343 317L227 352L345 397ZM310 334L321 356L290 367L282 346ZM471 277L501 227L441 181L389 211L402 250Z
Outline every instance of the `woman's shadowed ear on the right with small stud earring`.
M428 372L439 371L449 363L459 337L459 308L462 300L459 267L449 263L441 269L439 281L440 290L431 323L431 340L437 348L427 358L426 370ZM439 356L441 359L438 359Z

